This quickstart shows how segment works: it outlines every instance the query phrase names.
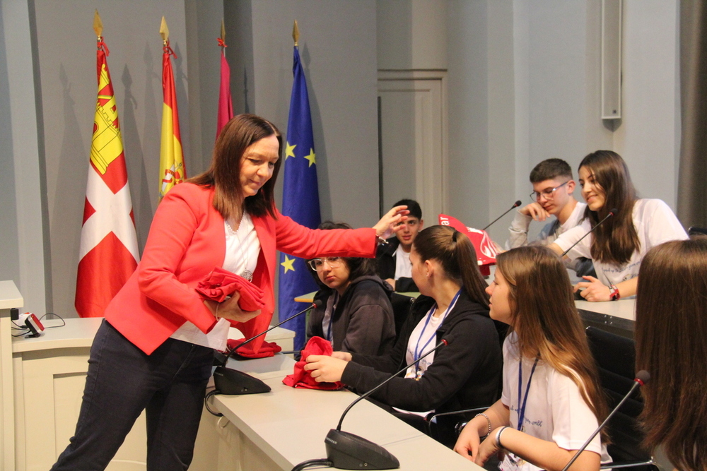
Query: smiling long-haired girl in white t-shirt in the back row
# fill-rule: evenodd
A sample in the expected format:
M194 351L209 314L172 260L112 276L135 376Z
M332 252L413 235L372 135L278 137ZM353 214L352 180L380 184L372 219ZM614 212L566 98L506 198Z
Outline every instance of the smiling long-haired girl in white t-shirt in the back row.
M587 202L582 225L564 232L550 247L556 254L581 239L569 258L591 258L597 278L584 276L575 291L587 301L615 301L636 294L638 267L648 250L676 239L687 239L677 217L665 202L638 199L626 162L611 150L597 150L579 165L579 184Z

